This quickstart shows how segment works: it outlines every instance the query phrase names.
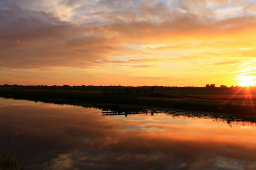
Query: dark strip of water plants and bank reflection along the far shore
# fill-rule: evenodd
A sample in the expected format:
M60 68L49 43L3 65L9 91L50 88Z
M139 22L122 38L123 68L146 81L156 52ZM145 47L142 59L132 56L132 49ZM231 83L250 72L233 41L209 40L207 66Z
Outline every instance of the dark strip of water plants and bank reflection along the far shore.
M20 99L20 98L11 98L11 97L2 97L5 99L15 99L15 100L27 100L32 102L42 102L47 104L55 105L72 105L79 106L84 108L94 108L102 110L102 116L128 116L131 114L154 114L165 113L170 116L186 116L192 118L207 118L213 119L215 121L225 122L232 127L232 124L241 122L256 123L256 116L250 115L238 115L238 114L226 114L226 113L214 113L214 112L205 112L205 111L186 111L181 109L174 108L157 108L152 106L140 106L140 105L120 105L120 104L111 104L111 103L78 103L77 101L68 101L62 99L46 99L46 100L31 100L31 99ZM107 115L104 111L110 111ZM104 114L105 113L105 114ZM153 114L152 114L153 113Z

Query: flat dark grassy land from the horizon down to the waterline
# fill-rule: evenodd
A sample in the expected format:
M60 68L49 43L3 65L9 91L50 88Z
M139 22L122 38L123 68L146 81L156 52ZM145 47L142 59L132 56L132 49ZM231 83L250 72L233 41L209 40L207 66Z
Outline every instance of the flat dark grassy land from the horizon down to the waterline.
M129 87L129 89L147 87ZM119 86L86 87L0 87L0 96L42 101L63 99L67 103L112 103L176 108L189 111L209 111L253 115L256 110L256 90L246 88L166 88L155 87L154 94L103 96L103 90L125 89Z

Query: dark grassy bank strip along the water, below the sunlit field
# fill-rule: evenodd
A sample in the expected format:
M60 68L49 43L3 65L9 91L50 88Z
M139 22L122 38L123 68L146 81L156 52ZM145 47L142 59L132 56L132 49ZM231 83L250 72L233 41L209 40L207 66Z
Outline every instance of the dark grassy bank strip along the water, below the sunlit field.
M193 90L193 89L192 89ZM192 91L191 90L191 91ZM218 90L218 89L217 89ZM222 90L222 89L221 89ZM158 95L159 96L159 95ZM64 104L98 104L108 103L117 105L137 105L144 107L157 107L181 109L185 111L204 111L212 113L227 113L241 116L256 116L255 105L237 105L232 101L187 99L180 96L156 97L155 96L103 96L101 92L74 91L72 88L0 88L0 97L12 99L27 99L47 102L57 101Z

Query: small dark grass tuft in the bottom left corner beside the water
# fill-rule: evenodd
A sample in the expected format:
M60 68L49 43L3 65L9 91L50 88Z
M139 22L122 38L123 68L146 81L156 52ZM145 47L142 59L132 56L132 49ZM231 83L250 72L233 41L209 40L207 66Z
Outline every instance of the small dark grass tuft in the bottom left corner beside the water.
M5 156L0 151L0 170L22 170L19 162L12 156Z

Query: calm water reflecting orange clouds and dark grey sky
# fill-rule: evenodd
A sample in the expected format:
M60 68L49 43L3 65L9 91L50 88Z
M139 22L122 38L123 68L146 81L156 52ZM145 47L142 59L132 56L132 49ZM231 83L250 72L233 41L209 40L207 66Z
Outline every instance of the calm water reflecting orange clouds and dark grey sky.
M58 152L61 161L46 169L256 169L255 123L180 115L102 116L100 109L0 98L0 150L31 170L57 161Z

